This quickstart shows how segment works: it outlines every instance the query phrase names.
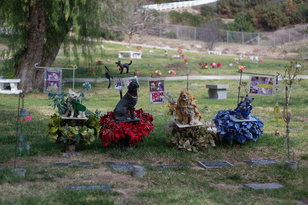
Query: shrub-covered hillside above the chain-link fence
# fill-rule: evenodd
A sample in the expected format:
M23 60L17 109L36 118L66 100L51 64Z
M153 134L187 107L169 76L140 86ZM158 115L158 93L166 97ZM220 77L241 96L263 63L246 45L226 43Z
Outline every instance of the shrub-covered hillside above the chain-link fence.
M198 13L188 9L168 12L171 24L202 27L210 19L224 23L222 29L244 32L266 32L283 26L308 22L308 0L220 0L216 3L194 6ZM222 21L228 22L228 21Z

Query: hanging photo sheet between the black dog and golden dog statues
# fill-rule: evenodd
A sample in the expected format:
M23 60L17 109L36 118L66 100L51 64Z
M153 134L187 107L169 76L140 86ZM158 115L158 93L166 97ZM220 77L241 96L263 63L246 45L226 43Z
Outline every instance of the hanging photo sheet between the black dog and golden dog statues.
M149 105L165 103L165 78L148 79Z

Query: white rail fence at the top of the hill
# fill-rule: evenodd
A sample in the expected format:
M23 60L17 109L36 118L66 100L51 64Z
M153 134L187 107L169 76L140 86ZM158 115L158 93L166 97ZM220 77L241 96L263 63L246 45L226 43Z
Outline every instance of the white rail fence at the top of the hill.
M164 10L164 9L175 9L182 7L190 7L190 6L198 6L202 4L208 4L217 2L217 0L195 0L195 1L185 1L185 2L172 2L172 3L164 3L164 4L151 4L145 5L144 8L154 9L154 10Z

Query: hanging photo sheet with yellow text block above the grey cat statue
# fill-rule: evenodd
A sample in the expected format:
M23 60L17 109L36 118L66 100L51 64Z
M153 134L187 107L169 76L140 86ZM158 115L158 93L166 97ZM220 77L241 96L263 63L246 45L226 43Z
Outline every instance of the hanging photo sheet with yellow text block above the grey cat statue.
M273 85L276 84L275 76L266 75L249 75L249 90L248 93L252 95L274 96Z

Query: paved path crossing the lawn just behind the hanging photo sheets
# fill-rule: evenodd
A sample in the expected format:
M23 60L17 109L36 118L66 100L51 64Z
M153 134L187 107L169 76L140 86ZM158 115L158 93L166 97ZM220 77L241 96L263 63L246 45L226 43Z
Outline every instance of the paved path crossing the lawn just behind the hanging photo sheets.
M240 80L241 75L189 75L189 80ZM307 79L308 75L301 75L300 78ZM138 81L148 81L148 78L150 77L139 77ZM248 80L249 75L242 75L242 80ZM177 77L168 77L168 81L176 81L176 80L187 80L187 76L177 76ZM91 78L91 77L75 77L75 82L103 82L103 81L109 81L107 78ZM63 78L63 83L71 83L73 82L73 78Z

